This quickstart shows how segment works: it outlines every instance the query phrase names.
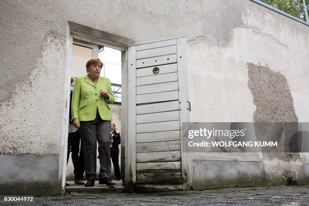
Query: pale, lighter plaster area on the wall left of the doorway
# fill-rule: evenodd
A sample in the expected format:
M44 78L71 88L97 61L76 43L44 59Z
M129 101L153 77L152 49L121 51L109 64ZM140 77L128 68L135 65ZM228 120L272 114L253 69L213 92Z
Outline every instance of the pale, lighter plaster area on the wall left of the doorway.
M2 153L59 153L64 73L55 72L53 65L65 68L63 43L47 34L28 79L17 81L15 95L0 105ZM22 63L15 64L18 68ZM18 70L4 69L6 81L11 82L11 73Z

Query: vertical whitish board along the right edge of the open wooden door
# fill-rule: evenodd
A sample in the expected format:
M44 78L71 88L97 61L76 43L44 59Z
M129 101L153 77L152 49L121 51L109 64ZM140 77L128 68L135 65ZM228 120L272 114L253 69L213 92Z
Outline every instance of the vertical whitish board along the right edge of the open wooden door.
M187 62L186 62L186 37L177 38L177 63L178 63L178 84L179 84L179 119L181 139L181 170L183 190L192 188L192 158L191 152L185 151L182 146L182 123L189 122L189 98L187 84Z

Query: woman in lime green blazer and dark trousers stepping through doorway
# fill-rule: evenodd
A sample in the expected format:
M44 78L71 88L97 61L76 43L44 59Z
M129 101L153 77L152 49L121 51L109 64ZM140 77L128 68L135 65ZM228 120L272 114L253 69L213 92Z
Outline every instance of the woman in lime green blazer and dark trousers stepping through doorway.
M91 58L86 63L84 77L75 81L72 97L73 125L79 128L84 156L85 187L94 185L96 177L96 141L99 152L99 184L113 186L111 180L110 131L112 114L109 104L114 102L111 82L100 77L103 63Z

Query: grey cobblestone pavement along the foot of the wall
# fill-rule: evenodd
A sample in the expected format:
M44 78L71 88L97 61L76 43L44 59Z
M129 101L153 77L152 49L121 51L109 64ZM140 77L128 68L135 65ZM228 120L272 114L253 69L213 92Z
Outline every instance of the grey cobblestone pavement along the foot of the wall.
M237 187L160 193L70 194L5 205L309 205L309 186Z

